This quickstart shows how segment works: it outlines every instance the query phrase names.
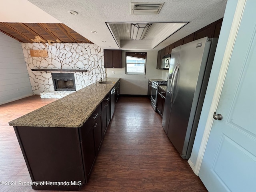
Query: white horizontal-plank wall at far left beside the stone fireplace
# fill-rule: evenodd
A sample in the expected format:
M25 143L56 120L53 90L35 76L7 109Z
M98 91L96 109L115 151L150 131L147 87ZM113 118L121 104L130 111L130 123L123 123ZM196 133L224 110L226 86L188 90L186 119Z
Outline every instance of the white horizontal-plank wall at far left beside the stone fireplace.
M0 32L0 104L31 95L21 44Z

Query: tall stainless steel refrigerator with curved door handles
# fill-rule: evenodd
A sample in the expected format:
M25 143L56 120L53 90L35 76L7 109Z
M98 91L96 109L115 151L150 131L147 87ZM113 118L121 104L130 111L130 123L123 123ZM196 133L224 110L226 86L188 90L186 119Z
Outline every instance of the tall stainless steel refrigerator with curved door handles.
M218 38L172 49L162 126L183 159L190 158Z

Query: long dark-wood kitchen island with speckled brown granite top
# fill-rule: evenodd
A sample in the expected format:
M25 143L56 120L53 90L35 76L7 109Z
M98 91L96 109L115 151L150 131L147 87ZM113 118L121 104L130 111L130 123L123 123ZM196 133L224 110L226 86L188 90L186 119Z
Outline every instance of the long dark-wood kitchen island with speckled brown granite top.
M112 84L92 84L9 125L14 126L37 190L79 190L88 182L110 118ZM110 119L109 119L110 120Z

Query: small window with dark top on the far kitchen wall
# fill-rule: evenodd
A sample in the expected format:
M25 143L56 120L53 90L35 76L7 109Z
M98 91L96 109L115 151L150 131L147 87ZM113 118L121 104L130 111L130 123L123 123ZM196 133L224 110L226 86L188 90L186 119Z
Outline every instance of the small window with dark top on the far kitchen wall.
M126 52L126 74L141 74L144 75L146 71L146 57L145 52Z

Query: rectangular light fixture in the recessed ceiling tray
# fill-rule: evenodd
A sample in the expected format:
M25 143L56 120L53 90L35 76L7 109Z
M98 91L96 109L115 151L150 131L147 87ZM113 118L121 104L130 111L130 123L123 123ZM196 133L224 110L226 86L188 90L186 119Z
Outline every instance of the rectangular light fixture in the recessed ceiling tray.
M142 40L145 38L148 30L152 24L131 24L131 39Z

